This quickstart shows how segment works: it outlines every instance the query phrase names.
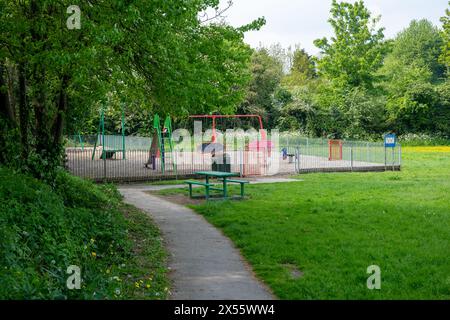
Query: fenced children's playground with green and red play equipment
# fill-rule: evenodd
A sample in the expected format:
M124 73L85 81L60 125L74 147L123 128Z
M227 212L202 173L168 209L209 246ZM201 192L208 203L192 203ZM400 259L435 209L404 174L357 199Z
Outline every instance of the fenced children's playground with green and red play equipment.
M269 135L258 115L190 116L183 128L173 128L170 116L154 115L152 120L149 136L125 135L123 115L121 132L111 133L102 112L97 134L67 137L67 168L79 177L111 182L187 178L198 171L257 177L401 168L398 144L386 148L383 142L308 138L293 132ZM240 130L230 138L228 130L236 128Z

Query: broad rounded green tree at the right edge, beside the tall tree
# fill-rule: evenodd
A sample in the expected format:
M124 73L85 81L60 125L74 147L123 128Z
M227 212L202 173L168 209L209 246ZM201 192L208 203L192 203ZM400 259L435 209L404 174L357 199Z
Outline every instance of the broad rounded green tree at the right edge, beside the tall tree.
M450 115L442 103L445 66L439 61L442 37L427 20L412 21L391 44L380 74L387 95L388 125L398 133L446 131ZM447 119L447 120L446 120Z

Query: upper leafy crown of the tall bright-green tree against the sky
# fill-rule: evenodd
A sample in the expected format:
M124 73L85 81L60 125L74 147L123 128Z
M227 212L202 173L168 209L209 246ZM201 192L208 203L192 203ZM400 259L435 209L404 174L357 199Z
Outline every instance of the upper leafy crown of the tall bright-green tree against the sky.
M331 15L334 36L314 42L322 55L319 73L340 87L372 88L385 53L383 29L375 28L379 18L371 17L363 1L333 0Z

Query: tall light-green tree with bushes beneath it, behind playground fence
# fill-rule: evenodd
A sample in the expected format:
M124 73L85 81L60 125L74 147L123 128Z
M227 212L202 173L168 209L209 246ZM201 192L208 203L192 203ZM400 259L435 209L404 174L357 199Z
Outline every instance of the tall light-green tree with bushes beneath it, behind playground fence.
M315 92L316 132L335 138L363 137L380 129L384 108L377 99L376 71L383 64L386 45L363 1L333 1L330 39L316 40L320 83ZM367 129L366 129L367 128Z

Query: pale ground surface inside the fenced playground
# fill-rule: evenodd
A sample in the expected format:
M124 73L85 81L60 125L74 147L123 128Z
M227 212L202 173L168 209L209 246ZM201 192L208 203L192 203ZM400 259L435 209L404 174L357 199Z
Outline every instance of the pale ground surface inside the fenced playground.
M117 153L111 160L96 157L92 159L93 148L67 148L68 169L76 176L95 181L133 182L151 181L158 179L174 179L176 177L191 177L197 171L211 170L211 155L201 152L179 152L167 154L167 159L176 161L176 166L165 166L161 170L161 160L156 159L154 170L145 167L148 161L148 151L127 150L125 159L123 153ZM399 170L398 162L385 164L380 154L375 159L367 157L359 160L345 157L342 160L330 161L326 154L310 155L300 154L294 159L284 159L281 152L273 151L270 157L261 157L255 153L249 155L238 151L227 152L231 158L231 171L240 172L242 176L270 176L282 174L295 174L302 172L340 172L340 171L385 171ZM97 152L101 154L101 152ZM241 164L238 159L253 158L252 164ZM168 160L166 160L168 161Z

